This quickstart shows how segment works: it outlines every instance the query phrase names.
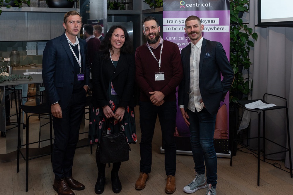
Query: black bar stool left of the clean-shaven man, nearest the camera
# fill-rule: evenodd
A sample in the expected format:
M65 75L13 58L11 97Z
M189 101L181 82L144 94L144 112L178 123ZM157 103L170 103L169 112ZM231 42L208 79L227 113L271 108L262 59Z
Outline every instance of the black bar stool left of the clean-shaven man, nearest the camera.
M43 96L43 95L38 95L38 96ZM22 105L22 99L23 98L31 98L31 97L35 97L35 96L27 96L27 97L22 97L21 101L20 101L20 105L19 105L19 120L18 120L18 146L17 146L17 168L16 168L16 172L19 172L19 158L20 158L20 154L23 157L23 159L25 160L25 191L28 191L28 161L32 160L34 158L38 158L38 157L42 157L42 156L46 156L46 155L50 155L52 154L53 151L53 138L52 138L52 114L51 114L51 106L48 103L42 103L40 105L35 105L35 106L28 106L28 105ZM20 122L20 113L21 110L23 110L23 112L26 115L26 134L25 134L25 144L21 144L21 122ZM29 133L30 133L30 129L29 129L29 119L31 116L42 116L42 115L49 115L49 124L50 124L50 139L44 139L44 140L39 140L39 141L35 141L32 143L29 143ZM41 127L41 125L40 125ZM33 157L29 157L29 145L30 144L35 144L38 142L42 142L42 141L48 141L50 140L50 150L51 153L46 153L46 154L41 154L38 156L33 156ZM25 154L23 154L23 152L21 151L21 148L25 146ZM52 157L51 157L52 159Z

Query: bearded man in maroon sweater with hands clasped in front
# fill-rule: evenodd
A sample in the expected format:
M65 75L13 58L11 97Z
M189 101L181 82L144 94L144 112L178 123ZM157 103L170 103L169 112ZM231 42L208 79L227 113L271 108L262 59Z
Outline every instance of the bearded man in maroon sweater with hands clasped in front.
M135 53L136 82L141 90L139 98L140 128L140 175L135 189L146 186L151 172L151 142L157 115L161 124L167 184L165 192L176 190L176 144L174 140L176 118L176 87L182 80L183 70L178 46L160 35L158 20L144 18L143 32L147 43Z

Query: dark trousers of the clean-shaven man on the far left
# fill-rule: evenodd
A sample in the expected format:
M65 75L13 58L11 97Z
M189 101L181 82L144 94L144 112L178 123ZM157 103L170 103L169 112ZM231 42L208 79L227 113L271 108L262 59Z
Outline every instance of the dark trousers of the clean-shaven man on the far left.
M69 105L62 109L62 118L53 117L52 168L56 179L72 175L73 157L78 142L81 119L84 115L85 99L84 89L73 93Z

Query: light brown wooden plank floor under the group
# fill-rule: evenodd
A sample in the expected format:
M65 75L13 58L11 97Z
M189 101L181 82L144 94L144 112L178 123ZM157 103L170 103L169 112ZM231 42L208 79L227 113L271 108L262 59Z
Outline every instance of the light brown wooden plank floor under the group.
M145 189L137 191L134 184L139 175L139 114L136 108L138 143L131 144L130 159L123 162L119 177L122 183L122 191L119 194L166 194L164 154L160 153L161 132L157 120L155 136L152 144L152 170L150 179ZM96 146L94 146L95 150ZM246 151L248 152L248 151ZM280 161L270 161L279 163ZM183 187L194 178L194 163L192 156L177 155L176 186L174 194L186 194ZM288 170L288 169L287 169ZM110 181L111 168L106 168L106 185L103 194L114 194ZM252 154L238 151L233 157L233 166L230 167L229 158L218 158L218 184L217 194L253 195L253 194L292 194L293 179L288 172L280 170L268 163L260 163L260 186L257 186L257 158ZM73 177L83 183L86 188L83 191L74 191L77 195L95 194L94 186L98 170L95 154L90 153L90 148L76 149L73 166ZM51 195L57 194L52 187L54 174L50 156L36 158L29 161L29 190L25 192L25 161L20 161L20 171L16 172L16 161L0 163L0 195ZM205 189L200 189L194 194L205 194Z

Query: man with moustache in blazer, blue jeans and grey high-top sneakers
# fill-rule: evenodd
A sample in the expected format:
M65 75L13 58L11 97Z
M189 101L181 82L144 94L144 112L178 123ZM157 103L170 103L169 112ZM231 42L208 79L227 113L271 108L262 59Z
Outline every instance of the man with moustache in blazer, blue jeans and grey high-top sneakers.
M224 101L233 83L234 73L222 44L204 39L202 30L197 16L185 20L185 32L191 43L181 51L184 76L179 85L178 104L190 129L196 176L183 191L193 193L207 188L207 194L216 195L215 121L220 101Z

